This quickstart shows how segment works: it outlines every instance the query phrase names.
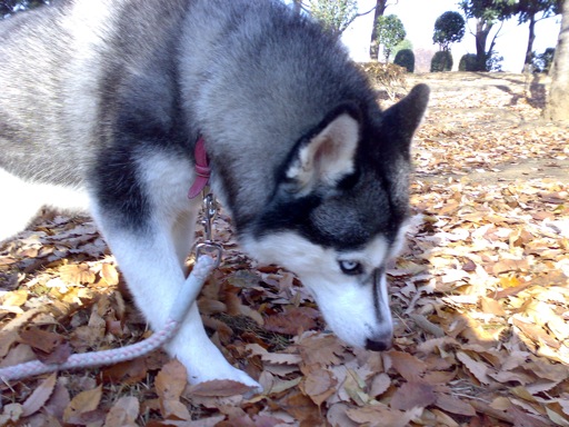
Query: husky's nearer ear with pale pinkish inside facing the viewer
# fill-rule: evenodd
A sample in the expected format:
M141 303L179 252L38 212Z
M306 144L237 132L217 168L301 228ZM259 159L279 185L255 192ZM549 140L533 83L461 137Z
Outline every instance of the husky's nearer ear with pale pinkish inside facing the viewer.
M286 167L288 190L303 196L318 186L335 187L352 173L360 128L356 106L335 109L289 157Z

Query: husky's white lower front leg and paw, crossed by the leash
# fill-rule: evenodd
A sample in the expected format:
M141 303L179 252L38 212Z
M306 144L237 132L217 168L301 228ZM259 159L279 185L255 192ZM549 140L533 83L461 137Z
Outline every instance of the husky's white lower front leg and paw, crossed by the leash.
M109 219L110 216L94 209L96 219L119 262L136 304L153 330L164 326L178 292L184 285L183 259L191 246L197 209L194 207L192 212L178 215L171 221L164 220L164 215L157 215L144 227L134 229L118 226ZM211 342L196 302L191 305L178 334L166 349L186 366L190 384L230 379L258 390L260 388L247 374L232 367Z

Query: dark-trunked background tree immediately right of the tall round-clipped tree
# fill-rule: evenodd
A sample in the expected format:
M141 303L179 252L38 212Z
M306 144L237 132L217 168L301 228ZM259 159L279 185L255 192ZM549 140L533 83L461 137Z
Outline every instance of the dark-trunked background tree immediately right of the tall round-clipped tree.
M476 20L473 34L476 37L477 71L489 71L492 62L496 62L496 58L492 61L492 56L496 53L493 48L501 27L495 33L487 49L488 36L497 22L516 13L516 3L517 0L461 0L459 2L467 19Z

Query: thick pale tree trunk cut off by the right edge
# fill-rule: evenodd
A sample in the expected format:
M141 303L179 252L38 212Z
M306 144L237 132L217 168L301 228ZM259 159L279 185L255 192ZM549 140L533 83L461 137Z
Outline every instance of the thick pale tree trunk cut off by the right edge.
M569 123L569 0L561 3L561 30L543 116L550 121Z

